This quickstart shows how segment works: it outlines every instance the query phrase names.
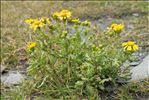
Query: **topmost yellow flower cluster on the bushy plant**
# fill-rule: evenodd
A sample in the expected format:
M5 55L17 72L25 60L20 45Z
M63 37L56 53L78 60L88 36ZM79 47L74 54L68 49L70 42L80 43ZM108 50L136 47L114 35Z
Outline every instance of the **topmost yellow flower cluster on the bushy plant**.
M60 20L65 20L71 17L71 12L69 10L62 10L61 12L55 12L53 17L59 18Z

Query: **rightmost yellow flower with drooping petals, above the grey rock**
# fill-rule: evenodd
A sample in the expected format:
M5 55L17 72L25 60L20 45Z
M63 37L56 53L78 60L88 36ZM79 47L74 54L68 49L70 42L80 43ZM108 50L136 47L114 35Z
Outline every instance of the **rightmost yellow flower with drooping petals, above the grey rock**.
M124 50L131 52L137 51L139 49L139 46L132 41L124 42L122 44L122 47L124 48Z

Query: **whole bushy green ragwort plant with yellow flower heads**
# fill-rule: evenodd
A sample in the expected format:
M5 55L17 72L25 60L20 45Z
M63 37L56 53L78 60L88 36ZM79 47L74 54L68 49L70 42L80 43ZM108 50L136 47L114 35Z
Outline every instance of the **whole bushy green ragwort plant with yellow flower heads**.
M121 64L138 50L133 41L118 42L123 24L97 34L90 21L73 19L68 10L25 22L33 29L27 44L28 75L35 90L53 98L95 99L106 86L116 85Z

